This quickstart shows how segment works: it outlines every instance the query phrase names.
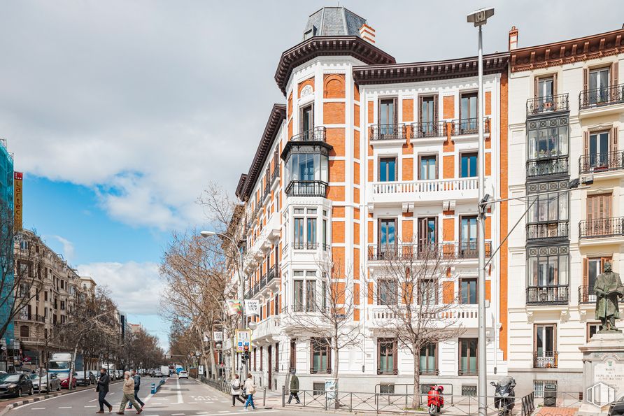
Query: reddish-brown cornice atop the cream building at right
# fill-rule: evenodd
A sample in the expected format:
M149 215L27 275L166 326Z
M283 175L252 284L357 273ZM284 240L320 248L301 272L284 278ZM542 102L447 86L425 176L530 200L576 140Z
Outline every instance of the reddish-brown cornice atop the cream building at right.
M511 72L530 71L624 52L624 29L511 51Z

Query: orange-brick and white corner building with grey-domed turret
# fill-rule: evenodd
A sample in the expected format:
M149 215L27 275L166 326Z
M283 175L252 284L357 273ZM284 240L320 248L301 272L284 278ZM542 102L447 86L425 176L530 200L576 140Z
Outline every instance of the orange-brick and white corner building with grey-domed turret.
M508 186L508 58L484 57L486 193L495 199ZM236 189L246 211L245 298L261 306L250 372L281 389L296 368L302 389L324 388L335 358L287 315L307 313L308 296L322 293L318 263L331 254L353 275L353 320L362 327L361 342L341 350L340 389L411 384L415 357L384 330L380 253L441 245L454 261L436 299L453 303L465 331L416 357L426 363L421 382L476 394L476 57L397 64L364 18L326 7L309 17L303 41L283 52L275 79L285 106L272 108ZM506 203L492 206L485 231L492 379L507 371L508 251L496 250L507 231Z

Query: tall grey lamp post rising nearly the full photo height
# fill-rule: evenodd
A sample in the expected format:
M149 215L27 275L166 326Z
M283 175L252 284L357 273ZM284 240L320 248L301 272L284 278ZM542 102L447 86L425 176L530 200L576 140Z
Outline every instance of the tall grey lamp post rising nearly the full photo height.
M485 342L485 209L489 196L485 196L485 155L483 140L483 25L494 15L494 8L482 8L468 15L468 22L478 27L478 415L487 413L488 399L488 361Z

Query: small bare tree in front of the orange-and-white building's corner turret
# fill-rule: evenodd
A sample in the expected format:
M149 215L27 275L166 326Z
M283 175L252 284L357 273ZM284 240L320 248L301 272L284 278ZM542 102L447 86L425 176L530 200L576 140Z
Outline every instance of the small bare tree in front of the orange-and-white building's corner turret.
M361 342L360 321L355 319L360 285L352 270L332 261L330 254L318 260L317 266L315 281L306 280L306 287L302 281L301 287L293 289L294 302L286 308L285 320L311 336L311 347L332 353L333 369L327 372L332 373L337 388L340 352Z

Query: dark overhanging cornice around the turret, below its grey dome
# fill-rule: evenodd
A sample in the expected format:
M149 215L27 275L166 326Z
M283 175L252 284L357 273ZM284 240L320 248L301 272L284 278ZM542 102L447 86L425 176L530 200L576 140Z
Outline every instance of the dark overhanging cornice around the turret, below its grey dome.
M286 95L286 84L295 67L318 56L352 56L365 64L394 64L395 58L360 36L313 36L283 52L275 81Z

